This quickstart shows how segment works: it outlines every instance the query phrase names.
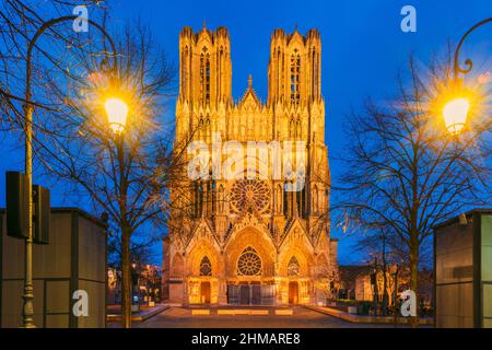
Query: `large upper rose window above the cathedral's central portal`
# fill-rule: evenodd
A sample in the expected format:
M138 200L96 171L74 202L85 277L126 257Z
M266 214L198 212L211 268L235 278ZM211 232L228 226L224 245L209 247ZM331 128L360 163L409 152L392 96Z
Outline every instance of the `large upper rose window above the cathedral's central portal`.
M259 212L269 208L270 187L266 182L256 179L239 179L231 189L231 203L236 212L254 207Z

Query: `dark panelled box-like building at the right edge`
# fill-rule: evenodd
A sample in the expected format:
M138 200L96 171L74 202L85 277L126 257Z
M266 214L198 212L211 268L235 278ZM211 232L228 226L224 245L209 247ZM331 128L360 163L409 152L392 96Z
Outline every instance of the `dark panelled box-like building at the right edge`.
M435 323L492 328L492 209L434 228Z

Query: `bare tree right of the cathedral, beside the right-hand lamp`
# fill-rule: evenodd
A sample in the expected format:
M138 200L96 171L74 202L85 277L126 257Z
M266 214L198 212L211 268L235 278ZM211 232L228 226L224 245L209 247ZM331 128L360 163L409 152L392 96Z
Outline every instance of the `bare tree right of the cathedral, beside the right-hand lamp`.
M470 206L491 202L490 152L481 148L487 128L480 116L467 132L450 137L430 108L438 86L449 82L448 67L433 65L424 77L411 58L408 83L398 80L398 97L384 105L368 101L348 125L345 188L337 208L350 222L395 233L407 249L415 293L422 244L433 226Z

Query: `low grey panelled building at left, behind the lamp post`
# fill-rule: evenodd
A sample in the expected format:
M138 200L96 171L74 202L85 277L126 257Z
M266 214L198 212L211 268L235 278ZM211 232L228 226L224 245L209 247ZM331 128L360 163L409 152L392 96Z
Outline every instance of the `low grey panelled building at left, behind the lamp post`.
M33 247L34 323L46 328L106 326L107 224L79 209L52 208L49 244ZM7 235L0 210L0 327L22 325L24 241ZM87 316L75 316L75 291L86 292ZM81 295L79 293L79 295Z

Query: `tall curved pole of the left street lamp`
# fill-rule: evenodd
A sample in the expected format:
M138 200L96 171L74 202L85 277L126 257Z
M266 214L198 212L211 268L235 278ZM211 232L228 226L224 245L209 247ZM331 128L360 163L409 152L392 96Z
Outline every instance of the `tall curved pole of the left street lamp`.
M27 238L25 240L25 270L24 270L24 292L23 292L23 325L24 328L35 328L34 324L34 307L33 307L33 299L34 299L34 288L33 288L33 194L32 194L32 184L33 184L33 109L34 103L32 102L32 88L31 88L31 78L32 78L32 57L33 49L37 39L46 32L46 30L52 27L56 24L62 22L73 22L78 19L77 15L61 16L57 19L52 19L44 22L34 34L33 38L28 42L27 46L27 55L26 55L26 71L25 71L25 98L24 98L24 119L25 119L25 175L27 177L27 188L28 190L28 205L27 205ZM116 73L118 71L117 60L116 60L116 46L107 32L97 23L85 20L87 23L99 30L103 35L108 39L109 45L112 46L113 56L114 56L114 67L113 70Z

